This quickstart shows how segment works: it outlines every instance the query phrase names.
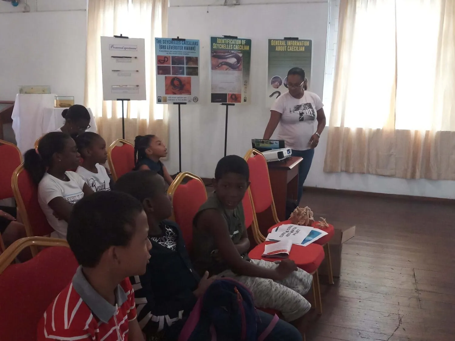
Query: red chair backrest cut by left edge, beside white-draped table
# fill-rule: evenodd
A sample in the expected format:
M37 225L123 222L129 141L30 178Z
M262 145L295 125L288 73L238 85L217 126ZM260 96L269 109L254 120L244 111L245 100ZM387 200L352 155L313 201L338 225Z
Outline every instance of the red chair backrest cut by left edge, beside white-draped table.
M2 200L14 196L11 177L22 160L19 149L2 140L0 140L0 160L0 200Z

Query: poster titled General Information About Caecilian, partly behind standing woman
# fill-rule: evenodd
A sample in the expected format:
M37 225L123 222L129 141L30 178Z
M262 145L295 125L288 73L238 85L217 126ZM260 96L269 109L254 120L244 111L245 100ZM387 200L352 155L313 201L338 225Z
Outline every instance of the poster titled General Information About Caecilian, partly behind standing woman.
M288 91L288 71L293 67L302 68L311 83L311 40L269 39L268 40L268 77L266 105Z

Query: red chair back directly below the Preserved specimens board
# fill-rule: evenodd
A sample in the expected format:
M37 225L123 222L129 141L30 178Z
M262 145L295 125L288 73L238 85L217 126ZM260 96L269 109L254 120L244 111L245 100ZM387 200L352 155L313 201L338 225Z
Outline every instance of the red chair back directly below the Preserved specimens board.
M134 146L127 140L115 140L107 150L107 160L112 178L117 181L123 174L134 169Z

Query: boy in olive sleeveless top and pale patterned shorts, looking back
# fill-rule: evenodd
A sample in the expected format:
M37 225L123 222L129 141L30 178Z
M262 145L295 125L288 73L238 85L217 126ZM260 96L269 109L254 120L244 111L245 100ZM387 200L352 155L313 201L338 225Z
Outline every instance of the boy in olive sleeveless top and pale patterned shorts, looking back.
M313 277L289 259L279 263L248 257L242 199L249 186L248 164L237 155L218 161L215 191L194 218L193 260L198 272L232 277L247 286L261 308L280 311L294 321L311 308L303 297Z

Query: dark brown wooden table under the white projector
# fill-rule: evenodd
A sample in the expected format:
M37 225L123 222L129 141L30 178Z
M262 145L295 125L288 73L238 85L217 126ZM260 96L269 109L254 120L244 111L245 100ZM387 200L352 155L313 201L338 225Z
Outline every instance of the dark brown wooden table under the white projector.
M280 221L286 220L286 200L297 200L298 165L302 162L299 156L290 157L284 161L268 163L268 174L272 185L273 200Z

